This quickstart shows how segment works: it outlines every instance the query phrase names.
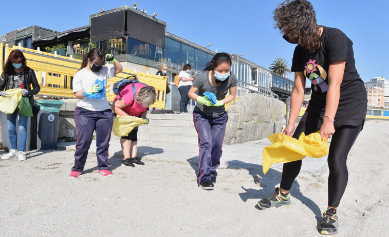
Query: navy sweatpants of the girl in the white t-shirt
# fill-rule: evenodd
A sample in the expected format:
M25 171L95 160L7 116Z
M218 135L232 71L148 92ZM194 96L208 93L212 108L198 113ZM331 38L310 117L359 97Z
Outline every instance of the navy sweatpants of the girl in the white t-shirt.
M75 122L77 144L73 171L82 171L88 156L93 132L96 130L96 156L99 169L109 169L107 164L108 147L114 122L112 110L90 111L76 107Z

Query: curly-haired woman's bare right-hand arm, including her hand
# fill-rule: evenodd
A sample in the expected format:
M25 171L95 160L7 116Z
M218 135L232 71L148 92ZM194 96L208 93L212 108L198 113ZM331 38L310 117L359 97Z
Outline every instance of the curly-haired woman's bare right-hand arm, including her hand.
M330 64L328 68L328 91L324 115L331 117L331 119L335 119L338 110L340 85L342 84L345 66L346 61L341 60ZM324 117L323 125L320 128L321 137L330 138L334 133L334 121L331 121L328 117Z

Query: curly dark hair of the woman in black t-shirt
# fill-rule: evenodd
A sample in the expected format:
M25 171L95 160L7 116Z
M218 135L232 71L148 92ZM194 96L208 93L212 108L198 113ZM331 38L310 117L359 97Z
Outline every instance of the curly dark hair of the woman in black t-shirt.
M290 41L297 42L309 52L313 53L322 46L318 34L320 26L316 23L316 12L310 2L287 0L273 11L273 18L276 21L274 28L279 28Z

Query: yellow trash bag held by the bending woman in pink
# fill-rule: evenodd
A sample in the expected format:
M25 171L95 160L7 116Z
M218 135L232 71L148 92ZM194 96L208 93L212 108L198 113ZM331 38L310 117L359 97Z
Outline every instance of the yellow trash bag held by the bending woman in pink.
M114 134L118 137L127 136L134 127L147 123L147 119L142 119L134 116L120 117L116 116L114 120Z

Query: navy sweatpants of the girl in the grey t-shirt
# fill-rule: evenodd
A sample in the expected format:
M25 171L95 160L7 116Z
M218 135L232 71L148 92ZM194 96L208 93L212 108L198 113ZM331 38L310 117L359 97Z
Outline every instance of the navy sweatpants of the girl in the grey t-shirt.
M193 122L198 134L198 175L197 183L211 180L217 176L216 168L220 165L221 147L223 146L224 135L228 114L209 117L193 112Z

